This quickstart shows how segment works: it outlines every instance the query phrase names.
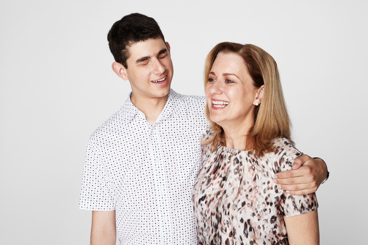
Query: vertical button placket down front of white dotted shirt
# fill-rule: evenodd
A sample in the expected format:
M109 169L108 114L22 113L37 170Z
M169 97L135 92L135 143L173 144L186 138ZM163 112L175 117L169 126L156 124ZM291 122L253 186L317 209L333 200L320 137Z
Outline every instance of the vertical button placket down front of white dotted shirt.
M151 125L149 125L151 126ZM168 202L168 187L166 177L166 167L164 166L164 154L160 144L159 137L160 120L158 120L153 126L150 127L151 131L151 156L152 161L155 163L154 176L155 176L155 188L159 209L159 222L160 232L162 235L162 244L172 244L172 227L170 219L170 205Z

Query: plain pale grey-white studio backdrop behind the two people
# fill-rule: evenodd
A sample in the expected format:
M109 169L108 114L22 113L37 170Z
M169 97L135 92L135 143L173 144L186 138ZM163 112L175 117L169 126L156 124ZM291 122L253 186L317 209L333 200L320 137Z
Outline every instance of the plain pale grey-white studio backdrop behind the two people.
M158 21L182 94L204 95L204 59L219 42L275 58L297 147L331 173L317 191L321 244L362 244L367 11L367 1L1 0L0 244L89 244L85 149L130 92L106 36L132 12Z

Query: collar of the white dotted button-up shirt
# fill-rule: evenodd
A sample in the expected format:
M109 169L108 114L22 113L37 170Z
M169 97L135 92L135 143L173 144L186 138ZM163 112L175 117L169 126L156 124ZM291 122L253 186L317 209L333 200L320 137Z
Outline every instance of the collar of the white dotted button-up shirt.
M132 101L130 100L131 95L132 92L130 92L127 100L125 101L123 107L121 108L125 123L129 123L135 117L135 115L141 112L137 107L135 107L135 105L133 105ZM167 96L167 102L158 118L159 119L168 118L172 114L179 115L180 114L179 104L180 104L179 94L176 93L173 89L170 89L169 95Z

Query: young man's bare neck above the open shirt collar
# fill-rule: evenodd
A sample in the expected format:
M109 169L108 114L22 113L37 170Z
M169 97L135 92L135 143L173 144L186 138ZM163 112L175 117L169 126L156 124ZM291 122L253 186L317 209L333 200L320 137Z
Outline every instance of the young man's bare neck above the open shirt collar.
M156 119L161 114L166 105L168 95L159 98L137 98L132 94L130 100L132 104L143 112L146 120L151 124L155 124Z

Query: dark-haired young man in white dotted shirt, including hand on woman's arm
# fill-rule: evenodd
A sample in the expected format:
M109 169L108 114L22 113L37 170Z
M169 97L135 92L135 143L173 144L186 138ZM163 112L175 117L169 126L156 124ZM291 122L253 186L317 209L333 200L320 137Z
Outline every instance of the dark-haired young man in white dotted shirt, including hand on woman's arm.
M115 244L116 230L120 244L197 244L191 191L208 126L205 98L170 90L170 45L153 18L127 15L107 39L112 69L132 93L88 143L79 207L93 210L91 244ZM279 184L314 192L327 174L318 161L302 156L295 163L306 165L279 175L294 175Z

